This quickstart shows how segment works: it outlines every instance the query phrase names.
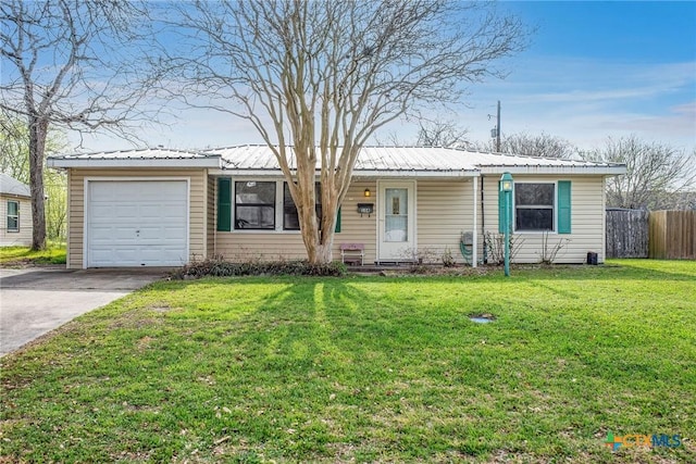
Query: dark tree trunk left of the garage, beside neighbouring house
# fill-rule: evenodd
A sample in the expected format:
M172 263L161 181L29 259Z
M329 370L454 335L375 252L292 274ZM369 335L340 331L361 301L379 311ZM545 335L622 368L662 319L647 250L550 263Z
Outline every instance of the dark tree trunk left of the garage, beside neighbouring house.
M44 155L48 120L29 117L29 187L32 190L32 250L46 249L46 209L44 198Z

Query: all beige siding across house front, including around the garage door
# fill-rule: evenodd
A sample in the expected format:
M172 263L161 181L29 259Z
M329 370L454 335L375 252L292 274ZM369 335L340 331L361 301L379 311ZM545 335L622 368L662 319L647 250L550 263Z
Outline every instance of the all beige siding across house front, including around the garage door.
M69 267L83 265L84 227L84 179L85 177L189 177L190 178L190 243L192 259L203 259L217 254L233 261L304 259L304 244L299 231L217 231L216 179L208 177L204 170L71 170L69 176ZM459 241L463 231L473 228L473 202L476 201L478 256L483 256L483 233L498 233L498 179L500 176L485 176L483 185L483 211L481 190L473 193L473 180L440 179L417 180L417 230L418 248L435 262L440 262L445 250L449 249L458 262L463 262ZM233 178L233 180L235 180ZM556 176L515 176L515 181L556 181ZM588 251L598 253L604 262L604 177L567 176L572 181L571 223L572 234L549 234L549 246L559 240L570 239L558 254L558 263L583 263ZM365 188L372 192L363 196ZM357 178L353 180L341 205L341 231L334 236L334 259L340 259L340 243L363 243L365 263L376 261L377 214L363 215L357 211L358 203L378 204L376 180ZM23 210L24 211L24 210ZM26 220L23 214L23 221ZM30 223L29 223L30 224ZM29 225L30 227L30 225ZM539 233L518 234L524 240L515 255L515 262L535 263L542 258Z

